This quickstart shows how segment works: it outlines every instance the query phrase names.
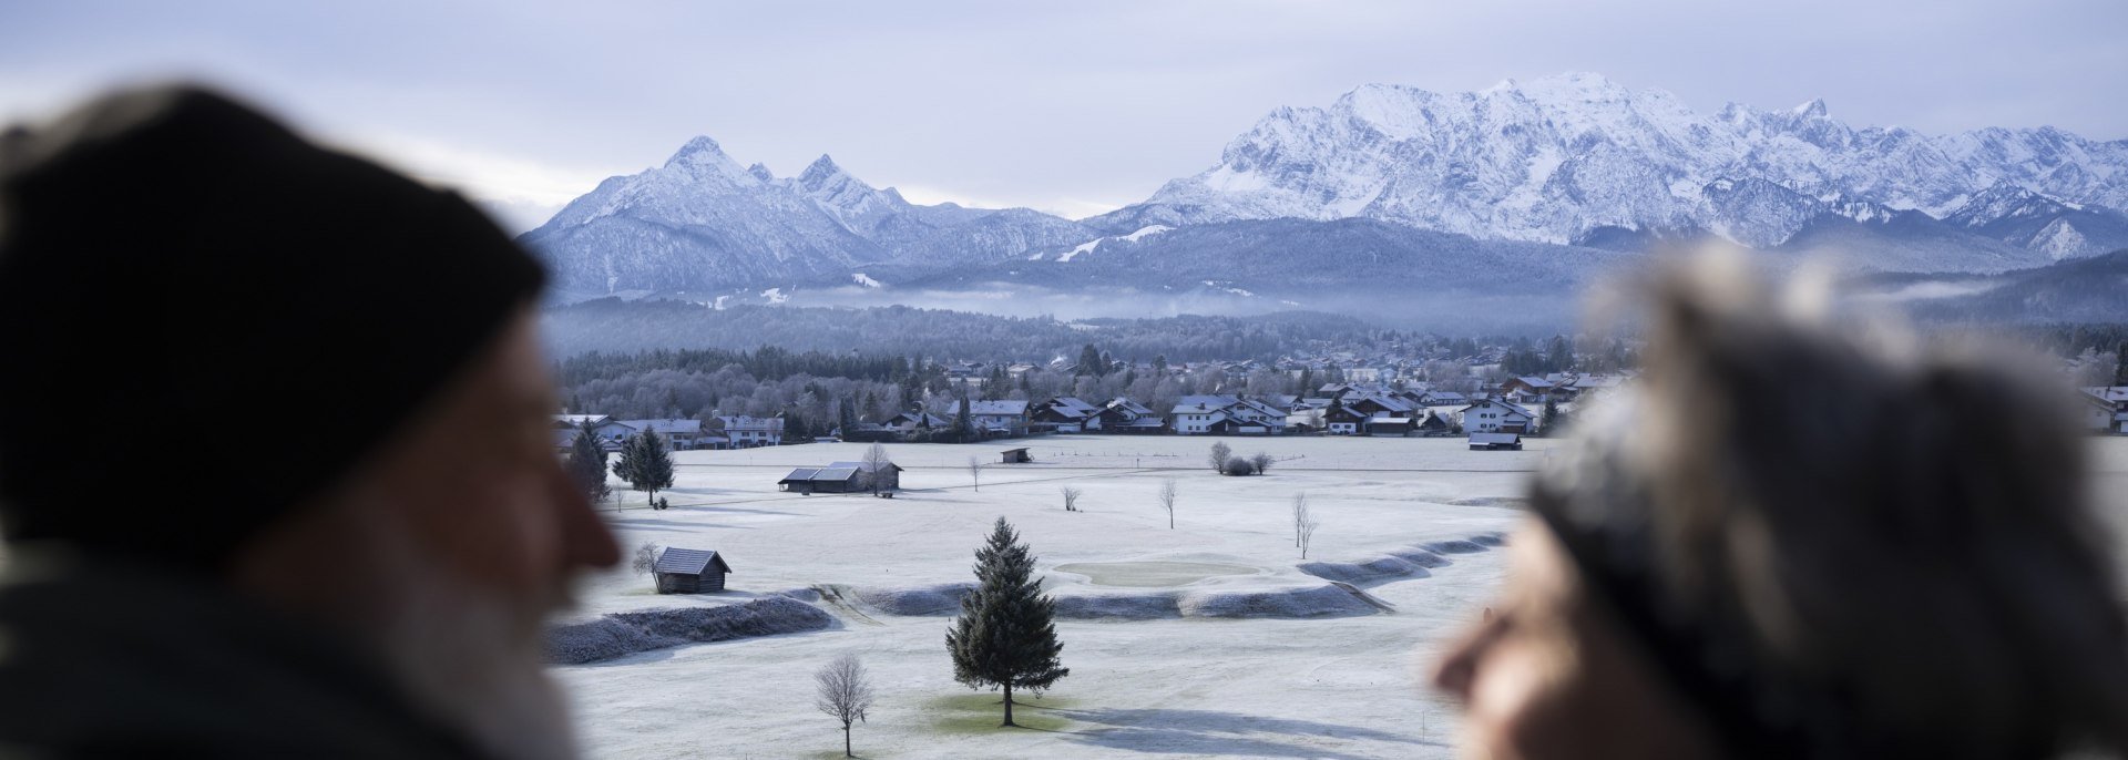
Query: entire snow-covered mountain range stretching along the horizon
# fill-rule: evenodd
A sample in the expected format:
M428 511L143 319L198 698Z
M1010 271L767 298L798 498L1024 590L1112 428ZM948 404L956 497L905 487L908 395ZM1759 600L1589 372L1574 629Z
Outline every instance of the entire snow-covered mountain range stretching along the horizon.
M1217 166L1081 221L913 204L826 155L779 179L694 138L521 241L564 300L1068 283L1304 298L1296 283L1381 287L1383 270L1358 266L1368 260L1422 266L1396 275L1436 290L1513 290L1453 272L1556 285L1611 251L1700 234L1864 270L2002 272L2128 247L2122 209L2128 141L1853 128L1819 100L1705 115L1662 89L1560 75L1464 94L1364 85L1326 109L1275 109Z

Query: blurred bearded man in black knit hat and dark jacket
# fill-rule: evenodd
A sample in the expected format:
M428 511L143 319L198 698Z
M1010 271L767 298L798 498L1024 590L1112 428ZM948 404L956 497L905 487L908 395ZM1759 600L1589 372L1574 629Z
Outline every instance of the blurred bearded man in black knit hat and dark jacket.
M0 756L572 756L534 260L196 89L0 143Z

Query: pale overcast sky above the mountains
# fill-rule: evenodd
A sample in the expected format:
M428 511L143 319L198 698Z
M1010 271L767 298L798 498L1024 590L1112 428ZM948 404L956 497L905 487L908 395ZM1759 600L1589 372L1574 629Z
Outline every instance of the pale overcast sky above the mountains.
M1594 70L1698 111L2128 138L2128 2L0 2L0 119L196 77L530 228L696 134L1083 217L1362 83Z

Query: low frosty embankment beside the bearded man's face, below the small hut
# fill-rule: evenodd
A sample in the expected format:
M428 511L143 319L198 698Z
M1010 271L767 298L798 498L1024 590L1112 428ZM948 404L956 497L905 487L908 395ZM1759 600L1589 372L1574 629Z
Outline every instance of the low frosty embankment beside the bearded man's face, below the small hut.
M745 605L647 609L613 613L585 624L551 626L547 628L547 651L555 664L585 664L683 643L821 630L832 622L834 617L819 607L796 598L766 596Z

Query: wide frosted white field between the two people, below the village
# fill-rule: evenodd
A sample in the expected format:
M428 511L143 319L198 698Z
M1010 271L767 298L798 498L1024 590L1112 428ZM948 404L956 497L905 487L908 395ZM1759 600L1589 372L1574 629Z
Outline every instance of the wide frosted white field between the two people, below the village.
M626 492L613 524L626 549L721 551L732 592L658 596L624 568L585 583L577 619L830 588L819 605L836 622L558 666L583 743L596 758L838 756L838 726L813 709L813 671L853 651L879 685L855 730L866 758L1451 756L1453 709L1422 673L1498 585L1502 554L1483 539L1511 530L1526 470L1553 443L1224 439L1281 462L1219 477L1204 464L1213 441L1011 443L1030 445L1034 464L994 464L1004 445L887 445L909 468L892 500L777 492L792 466L862 458L855 443L683 451L675 509L641 509ZM2128 470L2128 439L2100 449L2100 468ZM979 490L968 456L987 462ZM1162 479L1181 494L1173 530ZM1062 509L1064 485L1083 490L1081 511ZM1296 492L1321 519L1307 560L1319 575L1296 566ZM1070 677L1024 698L1017 730L996 728L998 696L955 683L945 654L949 585L972 581L998 515L1041 558L1060 609L1083 615L1058 622Z

